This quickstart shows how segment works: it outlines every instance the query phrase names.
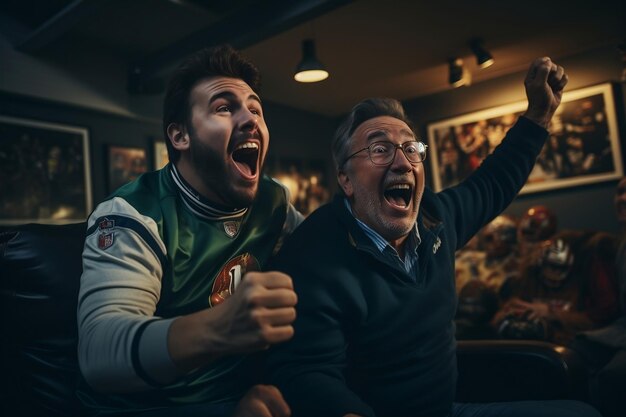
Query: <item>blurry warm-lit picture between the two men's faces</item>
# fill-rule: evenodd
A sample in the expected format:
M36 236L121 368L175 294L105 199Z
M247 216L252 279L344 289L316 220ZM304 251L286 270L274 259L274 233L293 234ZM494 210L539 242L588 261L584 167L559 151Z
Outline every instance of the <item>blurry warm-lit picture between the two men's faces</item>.
M326 168L323 160L268 157L264 169L289 189L289 201L306 216L330 199Z

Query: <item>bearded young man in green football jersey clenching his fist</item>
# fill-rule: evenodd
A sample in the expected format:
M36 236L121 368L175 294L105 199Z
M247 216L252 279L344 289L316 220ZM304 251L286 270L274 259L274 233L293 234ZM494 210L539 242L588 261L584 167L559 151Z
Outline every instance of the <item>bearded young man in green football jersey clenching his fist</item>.
M189 57L164 100L171 163L89 218L80 395L99 414L230 416L256 383L248 354L293 334L291 279L259 272L301 216L261 176L269 132L258 81L230 47ZM256 386L237 413L289 409L274 387Z

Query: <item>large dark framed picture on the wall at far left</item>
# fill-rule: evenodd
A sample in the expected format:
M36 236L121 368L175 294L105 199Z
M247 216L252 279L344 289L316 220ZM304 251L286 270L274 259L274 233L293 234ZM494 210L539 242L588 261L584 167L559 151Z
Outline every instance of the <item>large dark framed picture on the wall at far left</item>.
M85 220L90 172L87 129L0 115L0 224Z

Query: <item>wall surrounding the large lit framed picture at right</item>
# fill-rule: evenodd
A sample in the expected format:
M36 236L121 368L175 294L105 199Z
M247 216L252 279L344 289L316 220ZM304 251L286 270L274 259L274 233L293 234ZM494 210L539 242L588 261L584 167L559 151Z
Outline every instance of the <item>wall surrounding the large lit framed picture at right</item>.
M622 71L619 54L611 48L597 50L560 60L570 75L567 90L596 85L619 78ZM444 93L405 102L411 119L427 141L429 123L465 113L484 110L525 99L523 80L526 71L461 87ZM626 129L624 128L624 88L615 83L616 111L622 149L622 163L626 155ZM427 161L428 162L428 161ZM430 164L425 166L430 177ZM432 186L431 178L428 178ZM506 213L520 216L529 207L545 205L552 209L559 220L559 229L592 229L617 232L618 223L613 208L617 181L605 181L586 186L562 188L554 191L523 194L518 196Z

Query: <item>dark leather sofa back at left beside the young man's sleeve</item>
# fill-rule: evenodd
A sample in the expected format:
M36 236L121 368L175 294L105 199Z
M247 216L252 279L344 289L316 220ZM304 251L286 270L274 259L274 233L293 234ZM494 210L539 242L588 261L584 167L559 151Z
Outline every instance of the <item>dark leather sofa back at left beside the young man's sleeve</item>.
M86 224L0 229L3 415L79 414L76 301Z

